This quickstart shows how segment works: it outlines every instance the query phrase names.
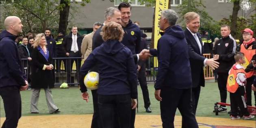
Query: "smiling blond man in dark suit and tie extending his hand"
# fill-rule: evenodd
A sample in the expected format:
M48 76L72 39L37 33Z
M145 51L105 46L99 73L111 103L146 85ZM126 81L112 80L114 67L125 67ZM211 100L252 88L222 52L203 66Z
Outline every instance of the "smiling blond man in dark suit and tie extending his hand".
M196 108L199 100L201 86L204 87L204 66L208 65L215 69L219 66L216 59L207 59L203 56L204 46L201 35L198 33L200 27L200 16L195 12L188 12L184 15L187 29L184 31L187 44L189 46L189 61L191 66L192 76L192 102L193 113L196 113Z

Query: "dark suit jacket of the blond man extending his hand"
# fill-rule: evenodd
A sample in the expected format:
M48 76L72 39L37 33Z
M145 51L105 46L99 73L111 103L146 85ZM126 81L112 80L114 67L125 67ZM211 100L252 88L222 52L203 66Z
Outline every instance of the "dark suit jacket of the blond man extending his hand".
M190 31L186 28L184 31L187 44L189 46L189 62L191 67L191 76L192 76L192 87L198 87L202 86L204 87L205 81L204 81L204 46L202 43L201 35L199 33L197 34L197 37L199 38L200 44L202 46L202 51L200 52L199 46L193 37L193 35L190 33Z

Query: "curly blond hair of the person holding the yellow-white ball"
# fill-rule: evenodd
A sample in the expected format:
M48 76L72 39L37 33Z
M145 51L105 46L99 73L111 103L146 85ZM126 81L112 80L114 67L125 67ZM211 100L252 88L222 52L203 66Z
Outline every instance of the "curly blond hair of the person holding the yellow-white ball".
M124 30L120 24L110 22L102 27L100 35L102 35L102 39L104 41L109 39L122 41L124 37Z

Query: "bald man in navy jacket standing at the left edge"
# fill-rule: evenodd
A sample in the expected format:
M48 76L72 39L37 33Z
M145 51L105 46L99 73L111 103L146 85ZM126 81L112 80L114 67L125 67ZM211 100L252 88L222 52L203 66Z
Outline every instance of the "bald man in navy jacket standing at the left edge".
M21 117L20 91L28 89L15 43L23 25L19 17L9 16L4 26L6 30L0 34L0 95L6 119L1 128L16 128Z

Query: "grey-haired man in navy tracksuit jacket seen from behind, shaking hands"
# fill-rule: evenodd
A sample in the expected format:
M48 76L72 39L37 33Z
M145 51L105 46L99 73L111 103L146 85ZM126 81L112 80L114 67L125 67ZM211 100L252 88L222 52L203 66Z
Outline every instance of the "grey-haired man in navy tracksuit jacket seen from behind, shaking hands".
M189 104L192 78L188 46L182 28L174 26L177 20L175 11L162 11L159 22L165 32L158 40L157 50L150 50L152 55L158 56L155 97L160 101L163 128L174 128L177 108L182 113L182 128L198 128Z

